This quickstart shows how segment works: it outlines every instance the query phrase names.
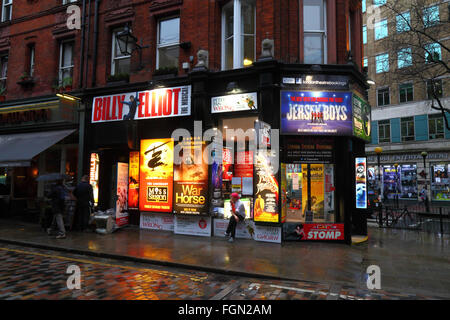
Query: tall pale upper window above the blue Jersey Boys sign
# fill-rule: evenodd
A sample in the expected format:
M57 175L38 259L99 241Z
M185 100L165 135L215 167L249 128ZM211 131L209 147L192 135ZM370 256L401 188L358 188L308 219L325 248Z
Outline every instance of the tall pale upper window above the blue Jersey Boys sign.
M303 1L304 63L326 63L326 5L325 1Z

